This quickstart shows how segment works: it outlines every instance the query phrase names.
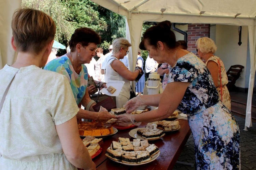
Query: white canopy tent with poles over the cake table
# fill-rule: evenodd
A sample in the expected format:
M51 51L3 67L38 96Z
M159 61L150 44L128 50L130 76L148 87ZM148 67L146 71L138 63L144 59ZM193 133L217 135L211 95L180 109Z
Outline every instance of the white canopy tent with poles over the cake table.
M127 18L127 39L132 44L128 53L129 69L136 65L138 46L144 21L174 23L212 23L248 26L250 47L250 82L248 88L245 129L252 125L251 105L256 70L256 1L255 0L91 0ZM11 48L11 18L22 0L0 1L0 69L11 65L15 52ZM130 49L130 50L131 50ZM133 56L133 58L131 57ZM132 60L133 59L133 60Z

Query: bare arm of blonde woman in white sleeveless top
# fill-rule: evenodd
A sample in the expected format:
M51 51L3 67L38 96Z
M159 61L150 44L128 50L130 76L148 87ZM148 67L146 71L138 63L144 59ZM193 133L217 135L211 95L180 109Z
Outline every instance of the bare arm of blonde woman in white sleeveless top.
M114 60L112 63L111 63L111 67L118 73L120 74L123 78L125 78L126 80L129 80L129 81L134 81L138 75L139 75L139 72L140 70L135 70L133 72L131 72L130 70L128 70L124 63L122 63L121 61L119 60Z

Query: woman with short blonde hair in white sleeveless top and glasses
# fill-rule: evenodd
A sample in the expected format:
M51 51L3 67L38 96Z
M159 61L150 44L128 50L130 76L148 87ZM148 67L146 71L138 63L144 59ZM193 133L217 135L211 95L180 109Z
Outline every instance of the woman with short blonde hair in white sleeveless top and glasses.
M131 47L129 41L125 38L116 38L113 43L112 55L106 57L105 82L124 81L124 86L120 94L116 97L116 107L121 108L130 99L131 82L136 80L139 73L142 72L138 67L131 72L120 61L128 54L128 48Z

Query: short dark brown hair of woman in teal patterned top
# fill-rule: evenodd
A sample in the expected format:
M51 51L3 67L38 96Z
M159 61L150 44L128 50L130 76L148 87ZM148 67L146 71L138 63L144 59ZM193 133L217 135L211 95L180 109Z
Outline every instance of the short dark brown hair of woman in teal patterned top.
M71 39L69 41L69 47L71 52L74 51L74 48L79 43L82 44L82 46L88 46L89 43L100 44L101 37L97 32L90 28L77 28L75 32L72 34Z

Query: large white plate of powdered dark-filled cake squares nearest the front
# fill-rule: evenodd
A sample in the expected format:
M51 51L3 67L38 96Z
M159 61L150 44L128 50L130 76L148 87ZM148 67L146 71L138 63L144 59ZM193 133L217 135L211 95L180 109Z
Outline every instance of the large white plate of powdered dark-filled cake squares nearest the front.
M137 166L154 161L160 150L147 140L133 139L131 142L129 138L119 137L118 141L112 141L105 155L115 162Z

